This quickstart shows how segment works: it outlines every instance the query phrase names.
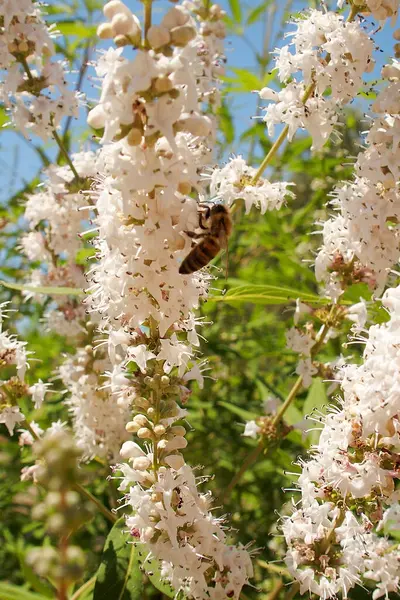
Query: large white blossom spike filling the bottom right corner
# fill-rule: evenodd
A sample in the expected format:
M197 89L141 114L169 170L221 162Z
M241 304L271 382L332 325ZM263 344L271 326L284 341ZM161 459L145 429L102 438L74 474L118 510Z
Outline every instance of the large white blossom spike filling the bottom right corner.
M383 305L390 320L369 329L363 363L342 367L343 399L324 419L311 459L301 463L301 501L283 520L286 562L323 598L373 587L373 598L398 590L400 550L400 286Z

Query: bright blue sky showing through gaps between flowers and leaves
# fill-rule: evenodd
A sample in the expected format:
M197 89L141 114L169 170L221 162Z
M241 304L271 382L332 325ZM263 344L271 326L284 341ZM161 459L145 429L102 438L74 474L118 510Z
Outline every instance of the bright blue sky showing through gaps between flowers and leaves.
M232 0L231 0L232 2ZM56 4L54 0L49 1L50 5ZM59 4L59 2L57 2ZM127 1L130 8L136 12L139 16L142 10L142 5L135 0ZM335 5L335 2L328 2L328 6L331 8ZM248 15L252 10L256 9L260 5L258 0L250 0L247 2L241 2L242 15ZM270 30L270 38L276 38L276 44L283 45L284 31L280 31L279 21L280 16L283 12L283 7L286 2L279 0L278 2L270 2L269 8L263 11L262 21L257 22L255 25L242 27L242 30L238 32L238 35L229 36L226 43L226 56L228 60L228 69L231 67L245 69L249 73L257 72L257 62L255 60L255 51L261 52L263 42L265 39L266 28ZM292 2L292 12L304 10L304 5L307 2L298 2L294 0ZM168 2L156 2L154 4L154 20L157 21L164 10L170 7L171 4ZM227 0L223 0L222 6L231 13L230 5ZM275 13L275 20L271 20L271 15ZM82 16L83 13L82 13ZM265 17L269 17L265 18ZM393 48L393 29L386 25L385 29L379 32L376 36L376 43L380 50L376 52L377 68L374 73L370 76L374 79L379 76L379 70L382 64L385 63L387 58L390 56ZM228 71L228 75L229 75ZM76 79L76 74L71 74L71 82ZM86 80L83 90L87 93L88 97L93 99L98 91L93 88L92 82ZM238 125L238 129L244 130L251 124L251 117L255 114L256 110L256 97L250 93L246 94L235 94L232 95L231 105L233 107L234 118ZM360 108L366 111L368 106L365 100L357 101ZM82 132L84 129L84 111L82 118L75 125L78 132ZM40 140L36 140L37 143L41 143ZM55 156L56 149L54 144L49 142L45 145L46 152L50 158ZM237 145L231 148L232 151L240 151L240 147ZM13 132L3 130L0 137L0 169L1 169L1 187L0 187L0 202L5 202L10 195L19 190L24 182L29 181L33 175L40 168L41 161L38 158L36 152L32 149L30 144L23 140L22 136Z

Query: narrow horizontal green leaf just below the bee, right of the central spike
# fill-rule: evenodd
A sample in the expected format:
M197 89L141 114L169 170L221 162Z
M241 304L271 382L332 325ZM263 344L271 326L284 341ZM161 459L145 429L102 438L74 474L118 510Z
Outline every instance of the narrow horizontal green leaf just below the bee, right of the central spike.
M244 302L251 304L288 304L300 298L307 304L317 306L329 304L327 298L322 298L308 292L301 292L293 288L284 288L275 285L242 285L227 291L221 296L210 296L208 302L226 302L236 306Z

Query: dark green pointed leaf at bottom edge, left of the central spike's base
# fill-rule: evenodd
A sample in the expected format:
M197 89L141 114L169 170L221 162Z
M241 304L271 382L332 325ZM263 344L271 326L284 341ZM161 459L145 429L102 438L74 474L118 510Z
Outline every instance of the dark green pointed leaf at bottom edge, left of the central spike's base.
M104 544L93 600L142 600L143 581L138 548L136 544L128 542L125 519L121 517Z

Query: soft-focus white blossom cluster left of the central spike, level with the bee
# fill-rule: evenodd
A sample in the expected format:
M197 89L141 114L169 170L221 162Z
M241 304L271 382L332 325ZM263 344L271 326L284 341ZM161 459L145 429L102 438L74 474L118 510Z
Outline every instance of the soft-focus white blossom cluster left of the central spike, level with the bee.
M45 180L38 191L27 195L24 218L29 231L20 238L20 246L35 265L28 286L83 290L86 285L86 250L80 234L87 213L80 209L88 203L82 190L95 176L96 154L79 152L72 155L72 162L78 181L68 165L51 165L44 171ZM80 254L82 260L78 260ZM33 291L26 295L39 301L47 297ZM45 320L50 330L75 338L84 335L87 316L81 298L55 294Z

